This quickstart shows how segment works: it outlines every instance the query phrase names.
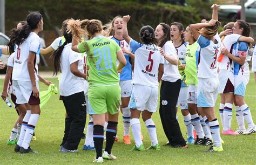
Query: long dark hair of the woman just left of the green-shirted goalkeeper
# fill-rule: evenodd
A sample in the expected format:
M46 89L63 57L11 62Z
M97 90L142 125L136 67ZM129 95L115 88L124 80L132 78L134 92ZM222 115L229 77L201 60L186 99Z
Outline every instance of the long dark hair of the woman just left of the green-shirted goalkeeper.
M50 58L53 59L53 75L57 75L61 72L60 69L60 57L62 56L62 51L66 44L72 43L72 33L64 31L63 36L65 37L65 43L62 46L59 46L58 49L52 52ZM66 54L65 54L66 55Z

